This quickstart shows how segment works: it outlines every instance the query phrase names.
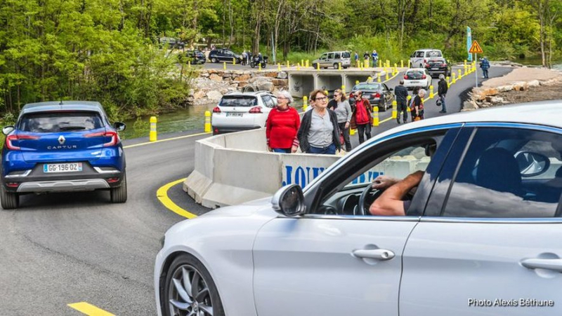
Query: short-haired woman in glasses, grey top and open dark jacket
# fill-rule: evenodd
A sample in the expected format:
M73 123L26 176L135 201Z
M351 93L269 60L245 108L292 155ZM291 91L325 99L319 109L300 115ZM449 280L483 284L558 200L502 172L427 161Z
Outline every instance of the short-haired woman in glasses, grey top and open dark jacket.
M296 137L304 153L332 154L341 150L339 143L338 118L334 111L327 109L328 97L323 90L311 94L314 109L306 111Z

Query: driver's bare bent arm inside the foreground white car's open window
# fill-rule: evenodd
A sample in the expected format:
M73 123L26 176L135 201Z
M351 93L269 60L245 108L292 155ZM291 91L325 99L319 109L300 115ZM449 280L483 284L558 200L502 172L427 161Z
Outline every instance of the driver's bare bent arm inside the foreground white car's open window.
M421 177L424 177L424 172L417 171L387 188L377 200L374 200L369 207L369 212L377 216L405 216L406 210L402 198L412 188L418 186Z

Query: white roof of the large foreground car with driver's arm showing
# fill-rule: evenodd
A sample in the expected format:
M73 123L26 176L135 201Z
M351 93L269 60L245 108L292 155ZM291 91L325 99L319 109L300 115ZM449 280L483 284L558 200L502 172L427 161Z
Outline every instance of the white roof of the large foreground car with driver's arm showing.
M436 118L399 125L381 132L374 139L381 139L413 128L429 128L455 123L522 123L562 128L562 99L504 105L475 111L464 111ZM372 142L372 141L369 141Z

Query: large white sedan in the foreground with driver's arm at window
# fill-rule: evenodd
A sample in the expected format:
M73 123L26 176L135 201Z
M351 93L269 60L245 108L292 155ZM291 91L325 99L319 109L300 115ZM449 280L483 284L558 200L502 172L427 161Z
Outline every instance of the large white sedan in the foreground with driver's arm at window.
M158 313L562 315L561 117L557 101L400 125L303 190L182 221ZM405 216L368 215L373 179L417 170Z

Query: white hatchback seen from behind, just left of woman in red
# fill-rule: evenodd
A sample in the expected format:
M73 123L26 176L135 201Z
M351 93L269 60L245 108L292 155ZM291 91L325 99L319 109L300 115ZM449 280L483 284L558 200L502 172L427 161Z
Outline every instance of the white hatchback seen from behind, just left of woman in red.
M264 128L277 97L268 91L230 92L213 109L213 135Z

